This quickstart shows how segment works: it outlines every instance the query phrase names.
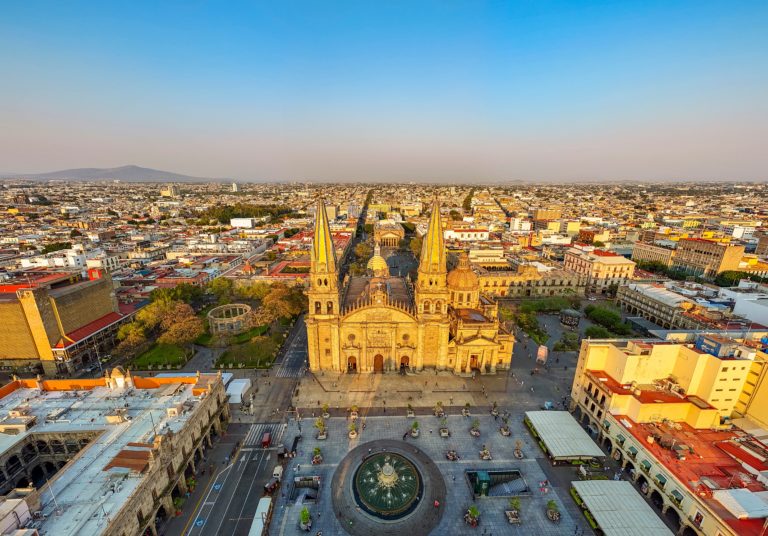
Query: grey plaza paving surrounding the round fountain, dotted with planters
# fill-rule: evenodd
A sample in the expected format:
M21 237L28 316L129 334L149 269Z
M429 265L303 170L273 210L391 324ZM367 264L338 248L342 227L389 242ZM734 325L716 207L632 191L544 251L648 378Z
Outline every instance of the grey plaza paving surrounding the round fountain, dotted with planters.
M503 409L503 408L502 408ZM437 527L429 532L434 535L460 535L460 534L541 534L561 535L573 534L576 527L584 533L590 530L585 520L579 515L566 486L549 487L542 492L539 483L544 480L552 480L552 468L544 459L538 446L534 444L530 435L524 429L522 412L515 410L510 417L511 437L503 437L498 428L501 420L495 421L487 410L474 412L471 417L465 418L456 414L449 414L448 427L451 430L450 438L441 438L438 434L439 419L434 416L419 415L421 436L406 439L408 445L413 445L421 452L429 456L439 468L446 484L446 500L440 506L444 508L443 515ZM469 435L471 421L474 418L480 420L482 435L473 438ZM286 486L283 493L278 496L275 513L270 527L272 535L299 535L307 534L299 528L299 512L303 507L301 500L293 502L285 496L290 480L295 476L321 477L321 489L318 502L308 503L312 514L312 532L318 530L323 535L343 535L342 523L349 521L345 513L334 510L331 500L332 477L339 462L347 453L364 443L382 439L401 441L403 433L409 428L413 419L407 419L404 412L386 417L366 417L366 429L360 435L350 440L347 437L349 421L344 417L332 417L328 420L328 439L318 441L315 439L316 430L311 428L312 419L305 418L301 423L303 439L299 443L297 457L290 460L285 473ZM431 433L430 433L431 431ZM292 438L298 433L298 423L291 421L285 437ZM517 460L513 457L515 440L523 441L525 459ZM492 461L481 461L478 456L483 445L491 450ZM324 463L311 465L310 459L314 447L320 447L324 456ZM445 459L444 453L448 449L454 449L461 456L461 460L450 462ZM513 526L507 523L504 510L508 500L504 497L478 497L473 501L472 491L465 480L465 471L476 469L519 469L526 479L531 494L521 497L522 524ZM546 471L546 472L545 472ZM567 480L567 479L566 479ZM560 507L562 519L559 524L553 524L547 520L545 507L547 501L555 499ZM463 514L467 508L474 504L480 510L480 525L470 528L463 521ZM340 515L339 515L340 514ZM371 532L370 534L377 534ZM411 531L409 536L421 536L418 531Z

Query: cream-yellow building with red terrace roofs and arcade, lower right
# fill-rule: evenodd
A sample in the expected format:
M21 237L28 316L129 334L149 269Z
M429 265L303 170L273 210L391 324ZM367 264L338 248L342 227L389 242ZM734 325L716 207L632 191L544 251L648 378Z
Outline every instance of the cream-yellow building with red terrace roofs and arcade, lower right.
M757 536L768 515L759 499L768 446L728 419L752 417L748 402L768 396L768 356L754 337L686 337L583 341L574 416L678 534ZM757 411L764 419L768 410Z

